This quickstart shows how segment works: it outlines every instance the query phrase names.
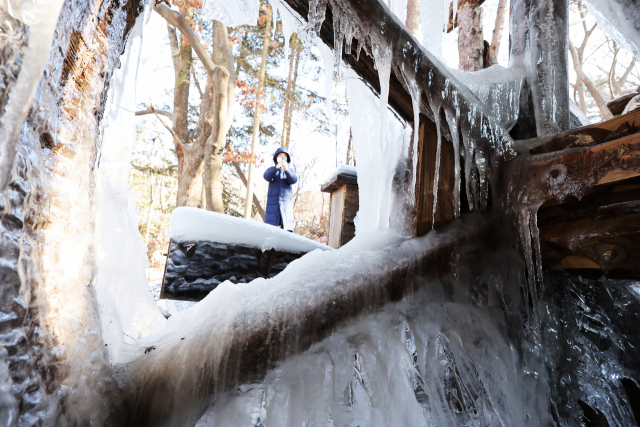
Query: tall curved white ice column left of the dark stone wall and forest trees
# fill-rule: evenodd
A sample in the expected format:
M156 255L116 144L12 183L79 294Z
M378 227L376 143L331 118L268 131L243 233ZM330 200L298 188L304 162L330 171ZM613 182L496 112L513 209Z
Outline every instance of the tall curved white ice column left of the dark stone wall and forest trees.
M166 323L149 292L147 248L138 231L135 197L129 191L142 20L140 15L127 41L122 65L111 80L96 171L95 288L101 338L112 363L133 358L139 350L138 339Z

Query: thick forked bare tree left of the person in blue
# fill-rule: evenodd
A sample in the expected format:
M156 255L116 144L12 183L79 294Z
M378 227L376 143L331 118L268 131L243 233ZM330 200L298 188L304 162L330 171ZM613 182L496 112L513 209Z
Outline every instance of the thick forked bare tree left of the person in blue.
M227 27L214 21L213 53L207 53L191 27L195 10L189 1L181 2L179 11L163 4L154 10L167 21L174 67L175 89L173 112L159 111L153 106L137 114L154 114L171 132L178 157L178 206L195 206L223 212L222 152L233 117L235 71ZM178 37L177 31L181 37ZM189 131L189 88L193 73L193 52L207 72L201 95L200 116L195 132ZM223 65L216 65L216 62ZM193 73L195 76L195 73ZM168 118L166 123L160 116Z

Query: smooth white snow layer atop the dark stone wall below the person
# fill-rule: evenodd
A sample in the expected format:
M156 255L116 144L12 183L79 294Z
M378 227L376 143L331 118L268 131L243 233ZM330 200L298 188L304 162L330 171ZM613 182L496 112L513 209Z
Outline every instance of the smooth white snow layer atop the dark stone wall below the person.
M206 240L287 252L333 250L330 246L262 222L247 221L204 209L181 207L171 215L169 236L176 242Z

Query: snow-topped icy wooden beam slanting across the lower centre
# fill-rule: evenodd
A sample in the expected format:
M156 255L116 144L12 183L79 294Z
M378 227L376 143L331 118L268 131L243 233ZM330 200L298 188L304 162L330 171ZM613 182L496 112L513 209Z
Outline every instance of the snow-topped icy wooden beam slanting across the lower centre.
M488 214L472 214L421 238L382 233L311 253L271 282L244 285L260 291L250 288L233 302L229 294L241 290L216 290L190 311L188 327L173 327L135 364L119 368L125 380L109 405L111 425L194 425L214 396L260 381L345 322L415 292L427 283L418 278L438 277L456 254L481 263L498 244L497 227Z

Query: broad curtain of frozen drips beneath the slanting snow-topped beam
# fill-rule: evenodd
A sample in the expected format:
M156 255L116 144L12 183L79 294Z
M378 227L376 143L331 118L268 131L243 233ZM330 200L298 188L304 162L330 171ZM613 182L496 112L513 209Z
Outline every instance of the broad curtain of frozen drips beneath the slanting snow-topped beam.
M483 284L501 294L487 307L471 302L467 284L431 282L216 397L198 425L253 426L258 416L282 427L551 425L543 360L519 354L501 315L514 301L498 289L517 283L498 282L520 268L504 261Z

